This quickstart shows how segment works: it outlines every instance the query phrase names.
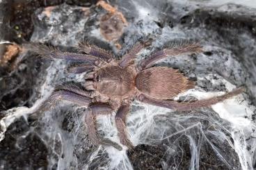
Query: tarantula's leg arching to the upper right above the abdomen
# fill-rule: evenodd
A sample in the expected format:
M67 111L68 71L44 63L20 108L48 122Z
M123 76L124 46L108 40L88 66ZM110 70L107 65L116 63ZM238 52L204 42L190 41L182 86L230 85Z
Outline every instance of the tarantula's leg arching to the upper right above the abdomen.
M190 54L200 52L202 52L202 48L198 43L184 44L182 46L177 46L170 49L163 49L153 53L149 58L142 60L142 62L138 65L138 70L147 69L148 67L152 66L154 62L166 58L167 56L177 56L184 53Z

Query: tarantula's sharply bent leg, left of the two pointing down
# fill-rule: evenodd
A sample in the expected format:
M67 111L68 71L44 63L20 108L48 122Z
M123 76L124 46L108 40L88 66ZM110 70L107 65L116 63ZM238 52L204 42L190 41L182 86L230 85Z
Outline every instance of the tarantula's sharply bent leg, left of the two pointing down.
M107 103L95 103L89 106L85 112L85 123L88 129L88 137L90 142L95 145L100 143L97 135L96 116L98 114L111 114L113 112L111 106Z

